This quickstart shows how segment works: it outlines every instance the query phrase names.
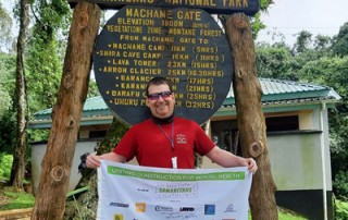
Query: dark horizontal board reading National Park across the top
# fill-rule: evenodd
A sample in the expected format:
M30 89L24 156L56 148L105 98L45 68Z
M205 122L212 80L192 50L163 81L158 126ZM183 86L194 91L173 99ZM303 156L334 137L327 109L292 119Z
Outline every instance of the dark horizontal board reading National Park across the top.
M74 7L80 0L67 0ZM202 9L210 13L231 14L244 12L254 15L259 11L259 0L85 0L97 3L102 9L121 9L124 5L147 5L161 8Z

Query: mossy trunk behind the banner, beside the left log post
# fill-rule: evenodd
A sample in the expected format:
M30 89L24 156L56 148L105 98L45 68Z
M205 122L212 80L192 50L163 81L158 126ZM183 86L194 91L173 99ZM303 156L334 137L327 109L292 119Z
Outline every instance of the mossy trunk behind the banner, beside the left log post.
M112 151L127 127L120 121L113 119L113 122L98 146L98 155ZM88 191L73 197L73 200L66 204L64 219L96 219L98 208L98 191L97 191L97 172L96 170L87 169L83 172L83 178L76 188L88 186Z

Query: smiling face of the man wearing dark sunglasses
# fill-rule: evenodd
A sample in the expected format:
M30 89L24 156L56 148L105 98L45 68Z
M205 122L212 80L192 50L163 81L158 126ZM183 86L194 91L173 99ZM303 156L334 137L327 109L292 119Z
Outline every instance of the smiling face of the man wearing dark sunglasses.
M175 97L172 93L171 95L165 95L165 91L171 91L169 85L150 85L148 89L149 96L154 95L152 100L147 98L147 106L150 108L150 111L153 117L159 119L165 119L173 114L175 106ZM159 94L161 94L159 96ZM157 96L156 96L157 95Z

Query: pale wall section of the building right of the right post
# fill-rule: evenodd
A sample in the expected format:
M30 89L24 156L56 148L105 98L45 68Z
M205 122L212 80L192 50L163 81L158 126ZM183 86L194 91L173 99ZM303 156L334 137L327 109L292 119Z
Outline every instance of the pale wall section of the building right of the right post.
M272 175L278 191L323 188L320 135L268 137Z

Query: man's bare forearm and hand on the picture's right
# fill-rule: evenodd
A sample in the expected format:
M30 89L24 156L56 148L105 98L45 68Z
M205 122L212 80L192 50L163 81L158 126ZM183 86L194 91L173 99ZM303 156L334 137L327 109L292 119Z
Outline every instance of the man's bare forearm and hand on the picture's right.
M248 167L248 170L252 173L258 170L258 166L252 158L238 157L232 152L221 149L220 147L214 147L206 156L224 168Z

